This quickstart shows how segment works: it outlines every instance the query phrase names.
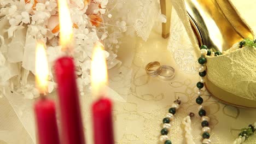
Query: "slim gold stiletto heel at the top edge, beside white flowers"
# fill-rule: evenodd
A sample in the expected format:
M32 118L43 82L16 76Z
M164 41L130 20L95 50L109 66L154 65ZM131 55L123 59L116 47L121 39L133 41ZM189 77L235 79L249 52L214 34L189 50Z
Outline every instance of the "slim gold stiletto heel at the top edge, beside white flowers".
M161 13L166 16L166 23L162 23L162 37L170 35L172 5L170 0L160 0Z

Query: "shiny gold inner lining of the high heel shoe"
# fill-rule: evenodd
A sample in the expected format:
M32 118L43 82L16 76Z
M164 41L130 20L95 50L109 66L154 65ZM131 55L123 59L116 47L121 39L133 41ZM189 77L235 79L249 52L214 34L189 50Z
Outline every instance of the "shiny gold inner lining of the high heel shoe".
M207 45L215 51L225 51L237 41L251 37L252 34L228 1L218 2L215 0L185 0L185 5L191 25L199 38L199 44ZM226 6L229 10L226 8L224 11L219 5L222 6L221 8ZM235 28L229 20L236 20L232 24L237 22L239 25L237 24Z

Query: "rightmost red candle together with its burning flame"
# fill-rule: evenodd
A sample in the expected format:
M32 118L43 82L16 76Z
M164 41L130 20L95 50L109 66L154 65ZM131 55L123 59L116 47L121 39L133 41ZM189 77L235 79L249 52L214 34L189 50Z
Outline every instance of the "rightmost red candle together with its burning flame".
M112 102L102 97L102 95L106 95L106 91L104 91L106 83L107 65L103 45L97 43L91 62L92 94L98 99L92 105L95 144L114 144Z

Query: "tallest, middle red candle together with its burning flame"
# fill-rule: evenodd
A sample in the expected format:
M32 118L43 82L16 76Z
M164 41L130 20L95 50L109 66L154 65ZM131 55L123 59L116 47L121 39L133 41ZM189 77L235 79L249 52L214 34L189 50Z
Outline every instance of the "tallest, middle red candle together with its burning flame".
M68 4L66 0L58 0L57 2L60 21L60 44L62 50L70 52L73 48L73 25ZM61 111L62 143L84 144L83 123L73 59L68 56L57 59L55 74Z

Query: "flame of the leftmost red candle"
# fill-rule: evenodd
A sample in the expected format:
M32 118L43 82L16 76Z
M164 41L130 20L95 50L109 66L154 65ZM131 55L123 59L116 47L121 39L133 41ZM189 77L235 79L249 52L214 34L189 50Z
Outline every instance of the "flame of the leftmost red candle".
M38 41L36 48L36 84L40 94L45 94L45 92L47 92L48 74L49 70L45 52L45 44L43 41Z

